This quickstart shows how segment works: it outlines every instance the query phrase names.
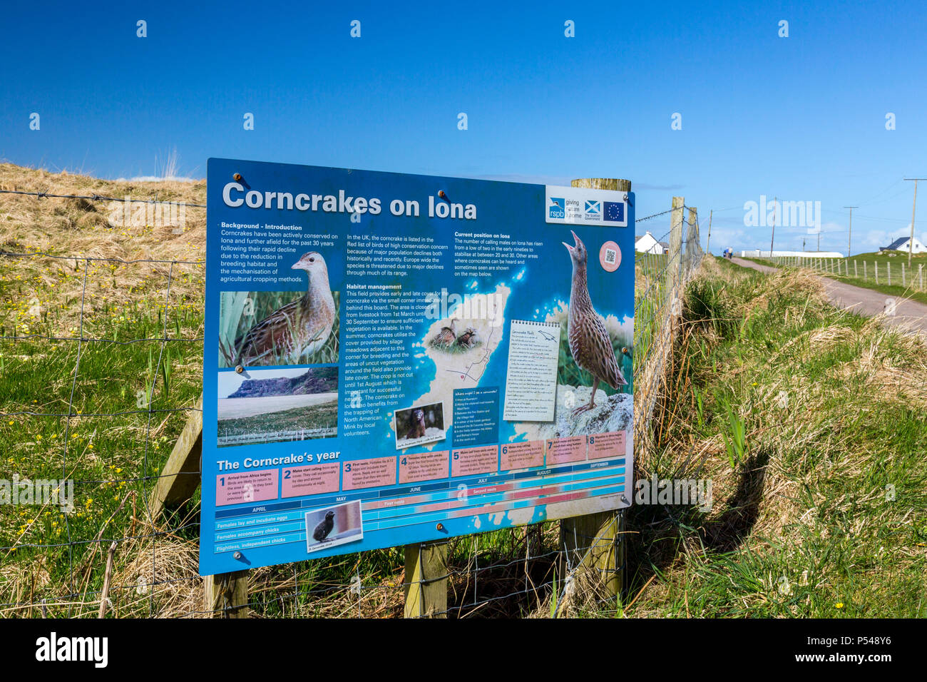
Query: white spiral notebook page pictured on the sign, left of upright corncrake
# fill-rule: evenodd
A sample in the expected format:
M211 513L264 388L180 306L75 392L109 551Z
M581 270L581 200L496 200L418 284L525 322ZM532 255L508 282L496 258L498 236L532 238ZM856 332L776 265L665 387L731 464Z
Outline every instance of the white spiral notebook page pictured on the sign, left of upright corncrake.
M553 421L559 354L559 324L512 320L503 419Z

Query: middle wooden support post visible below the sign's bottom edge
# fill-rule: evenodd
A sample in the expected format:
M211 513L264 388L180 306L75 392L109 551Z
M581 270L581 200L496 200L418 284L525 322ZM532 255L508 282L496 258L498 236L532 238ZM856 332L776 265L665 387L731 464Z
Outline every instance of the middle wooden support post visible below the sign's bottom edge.
M448 543L405 546L406 618L447 618Z

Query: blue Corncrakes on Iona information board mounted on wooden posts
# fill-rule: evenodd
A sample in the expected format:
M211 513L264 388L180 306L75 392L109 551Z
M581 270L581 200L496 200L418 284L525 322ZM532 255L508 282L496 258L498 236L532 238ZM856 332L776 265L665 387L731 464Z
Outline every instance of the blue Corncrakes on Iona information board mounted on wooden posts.
M632 194L207 175L200 573L630 504Z

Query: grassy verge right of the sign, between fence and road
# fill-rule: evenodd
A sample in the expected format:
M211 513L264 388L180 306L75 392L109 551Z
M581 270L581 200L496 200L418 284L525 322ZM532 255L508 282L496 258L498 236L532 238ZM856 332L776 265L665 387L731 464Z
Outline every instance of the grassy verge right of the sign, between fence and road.
M687 294L639 463L712 479L714 507L632 508L630 594L654 580L629 615L924 617L922 341L719 265Z

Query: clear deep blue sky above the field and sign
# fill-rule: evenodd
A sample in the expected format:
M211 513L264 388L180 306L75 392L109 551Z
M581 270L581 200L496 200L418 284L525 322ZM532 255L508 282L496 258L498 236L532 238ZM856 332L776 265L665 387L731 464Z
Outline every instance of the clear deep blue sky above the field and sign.
M674 194L705 225L715 209L716 252L768 248L768 227L743 225L743 203L764 194L820 201L822 249L846 250L847 204L860 207L855 252L908 229L913 183L901 179L927 176L922 0L390 5L7 3L0 159L131 177L175 148L193 177L210 156L626 177L639 217ZM682 130L671 130L674 112ZM927 182L919 188L927 242ZM637 231L659 238L668 225L661 216ZM777 248L801 249L806 232L782 227Z

